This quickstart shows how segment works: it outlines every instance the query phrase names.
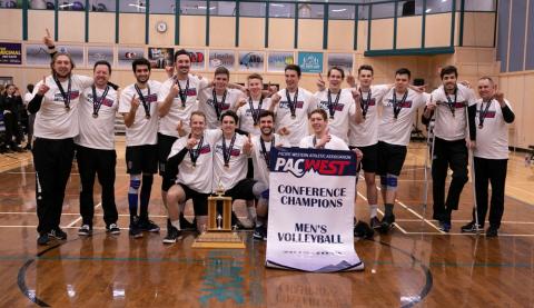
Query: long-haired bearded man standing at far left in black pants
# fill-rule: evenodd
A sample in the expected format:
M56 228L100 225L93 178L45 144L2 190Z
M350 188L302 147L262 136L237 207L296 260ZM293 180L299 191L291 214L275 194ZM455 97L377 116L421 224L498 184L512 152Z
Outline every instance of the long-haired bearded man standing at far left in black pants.
M67 239L59 222L75 155L73 138L79 133L80 93L92 85L92 78L73 74L75 63L68 53L52 57L52 73L39 81L28 111L36 113L33 166L39 225L38 245L48 245L50 237Z

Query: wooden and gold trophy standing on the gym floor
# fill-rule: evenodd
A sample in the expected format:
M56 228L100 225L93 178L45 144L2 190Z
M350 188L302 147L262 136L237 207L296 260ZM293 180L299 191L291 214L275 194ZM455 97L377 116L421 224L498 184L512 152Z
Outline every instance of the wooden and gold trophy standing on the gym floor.
M216 196L208 197L208 226L195 239L192 248L245 248L241 238L231 229L231 198L226 197L219 182ZM220 207L221 206L221 207ZM218 211L222 209L222 212Z

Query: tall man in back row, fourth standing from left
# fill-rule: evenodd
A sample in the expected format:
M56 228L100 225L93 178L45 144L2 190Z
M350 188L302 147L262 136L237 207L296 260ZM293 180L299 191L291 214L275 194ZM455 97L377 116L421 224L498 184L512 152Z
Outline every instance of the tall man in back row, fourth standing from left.
M177 126L182 123L189 129L191 112L198 109L197 97L200 90L208 87L208 80L190 74L191 54L184 49L175 52L175 76L167 79L158 93L158 160L159 175L161 176L161 200L167 207L167 191L174 179L166 175L165 166L172 143L178 139ZM184 205L182 205L184 206ZM192 225L180 217L181 227L190 228Z

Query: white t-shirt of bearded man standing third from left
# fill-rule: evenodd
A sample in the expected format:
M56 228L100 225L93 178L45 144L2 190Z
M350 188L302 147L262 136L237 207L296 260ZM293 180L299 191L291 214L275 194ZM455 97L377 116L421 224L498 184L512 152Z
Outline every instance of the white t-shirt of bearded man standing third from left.
M120 93L119 113L128 113L131 108L134 95L139 99L136 118L130 127L126 128L126 146L156 145L158 142L158 92L161 82L149 80L148 87L141 89L145 101L150 106L150 119L146 118L145 108L135 83L126 87Z

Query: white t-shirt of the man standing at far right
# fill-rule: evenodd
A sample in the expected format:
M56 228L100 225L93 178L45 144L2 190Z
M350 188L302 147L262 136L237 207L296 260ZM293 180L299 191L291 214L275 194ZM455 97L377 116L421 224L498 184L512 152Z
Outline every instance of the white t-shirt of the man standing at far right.
M504 100L510 106L510 101ZM486 109L487 103L482 103L482 99L476 101L476 148L473 152L475 157L487 159L507 159L508 158L508 127L503 118L503 110L497 100L493 99L484 117L484 125L478 127L482 111Z

